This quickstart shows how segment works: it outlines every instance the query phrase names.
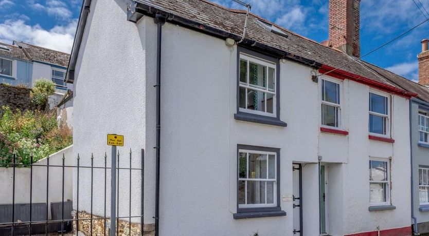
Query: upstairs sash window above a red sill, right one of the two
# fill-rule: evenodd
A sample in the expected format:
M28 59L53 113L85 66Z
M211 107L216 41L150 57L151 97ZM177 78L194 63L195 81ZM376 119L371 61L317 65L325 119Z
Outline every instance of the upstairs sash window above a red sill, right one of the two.
M387 136L389 127L389 98L369 93L369 132Z

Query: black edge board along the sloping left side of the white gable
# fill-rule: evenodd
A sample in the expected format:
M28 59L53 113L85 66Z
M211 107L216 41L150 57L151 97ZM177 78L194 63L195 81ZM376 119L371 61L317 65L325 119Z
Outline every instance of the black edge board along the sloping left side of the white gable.
M86 20L90 13L92 0L83 0L82 8L80 9L80 17L78 27L76 29L75 41L73 48L71 48L70 60L68 61L67 73L65 76L65 82L73 83L75 81L75 67L76 61L78 60L80 45L82 44L83 32L85 31Z

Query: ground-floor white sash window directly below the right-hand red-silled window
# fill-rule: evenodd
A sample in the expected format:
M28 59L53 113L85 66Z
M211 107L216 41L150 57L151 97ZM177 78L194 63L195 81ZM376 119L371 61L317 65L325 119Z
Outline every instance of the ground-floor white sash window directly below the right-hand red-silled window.
M390 204L389 170L389 160L369 160L369 202L371 205Z

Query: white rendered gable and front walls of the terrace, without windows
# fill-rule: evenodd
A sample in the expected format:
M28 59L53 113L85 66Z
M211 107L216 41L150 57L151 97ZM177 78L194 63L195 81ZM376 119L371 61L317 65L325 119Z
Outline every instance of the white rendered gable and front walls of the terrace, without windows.
M107 133L125 135L125 146L119 151L125 154L132 148L133 165L139 166L139 149L145 148L145 223L153 223L156 25L148 17L137 24L127 22L125 9L121 0L93 0L74 84L74 155L79 153L81 163L88 165L93 152L96 165L103 165L101 156L109 153ZM288 213L285 217L233 219L237 144L281 148L281 195L292 194L292 163L305 164L305 235L317 235L319 230L319 155L329 164L328 179L333 183L328 209L332 235L370 231L374 225L381 229L409 225L406 99L395 96L393 100L396 143L368 140L369 87L345 81L343 118L350 134L321 134L319 85L311 80L311 68L286 62L280 64L280 119L288 127L236 121L236 48L168 23L163 26L162 47L161 235L178 230L184 235L292 235L292 202L281 202ZM103 90L95 93L100 81ZM391 196L396 210L368 211L369 156L392 159ZM88 174L81 172L80 210L90 207L90 183L84 178ZM101 173L96 175L97 182L104 180ZM120 179L128 183L126 174ZM139 186L136 175L133 189ZM121 186L120 215L128 214L124 200L128 188L128 184ZM76 198L76 183L74 189ZM95 198L103 196L103 190L102 184L96 184ZM108 192L108 203L109 199ZM134 214L139 213L139 201L138 192L133 192ZM103 212L101 204L95 202L96 214Z

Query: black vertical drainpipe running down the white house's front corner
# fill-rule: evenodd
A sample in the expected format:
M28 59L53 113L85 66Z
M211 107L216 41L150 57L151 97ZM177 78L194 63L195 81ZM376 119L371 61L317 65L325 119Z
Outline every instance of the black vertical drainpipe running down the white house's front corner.
M161 37L167 17L156 13L153 21L158 25L156 42L156 179L155 179L155 236L159 235L159 151L161 140Z

